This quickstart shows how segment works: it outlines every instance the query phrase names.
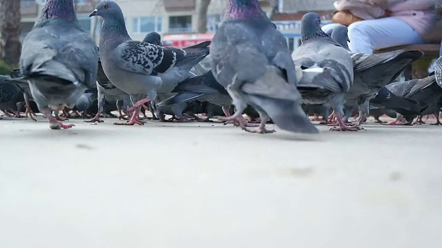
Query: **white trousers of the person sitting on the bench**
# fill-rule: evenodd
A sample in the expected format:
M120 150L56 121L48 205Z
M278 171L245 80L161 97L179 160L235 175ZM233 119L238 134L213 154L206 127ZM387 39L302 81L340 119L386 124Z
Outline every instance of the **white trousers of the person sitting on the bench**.
M327 32L336 25L338 24L324 25L323 30ZM396 45L425 43L410 25L395 17L356 21L348 26L348 37L350 50L364 54L372 54L374 50Z

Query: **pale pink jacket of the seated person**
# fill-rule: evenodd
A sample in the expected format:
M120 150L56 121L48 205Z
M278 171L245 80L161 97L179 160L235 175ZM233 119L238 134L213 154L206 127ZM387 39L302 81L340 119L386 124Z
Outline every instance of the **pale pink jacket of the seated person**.
M438 0L388 0L390 16L401 19L416 32L427 33L434 23L434 5Z

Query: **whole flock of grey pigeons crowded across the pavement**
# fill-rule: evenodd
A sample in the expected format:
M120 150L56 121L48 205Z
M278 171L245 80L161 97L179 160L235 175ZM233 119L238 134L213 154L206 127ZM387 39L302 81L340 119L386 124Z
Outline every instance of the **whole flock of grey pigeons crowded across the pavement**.
M40 112L54 130L73 127L64 122L75 117L143 125L146 111L160 121L220 116L261 134L274 132L265 126L270 122L289 132L318 133L309 114L323 116L320 123L334 131L363 130L370 114L378 122L383 114L396 118L388 125L423 123L422 116L434 114L434 124L441 124L441 58L430 76L405 81L404 68L423 52L351 52L347 27L325 33L314 12L302 17L302 43L293 53L258 0L228 0L213 40L183 49L162 45L156 32L131 39L113 1L100 1L94 16L104 19L98 47L81 30L73 0L46 1L23 41L19 69L1 75L6 116L25 112L36 121ZM202 67L205 59L211 68Z

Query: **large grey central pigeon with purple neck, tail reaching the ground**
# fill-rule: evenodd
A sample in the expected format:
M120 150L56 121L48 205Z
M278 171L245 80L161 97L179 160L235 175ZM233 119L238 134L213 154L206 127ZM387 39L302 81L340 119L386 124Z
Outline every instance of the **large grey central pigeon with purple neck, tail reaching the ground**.
M224 21L212 39L213 76L233 99L236 112L224 121L238 121L242 130L271 133L271 119L282 130L318 133L301 108L296 73L287 41L275 28L258 0L229 0ZM242 111L251 105L260 125L249 130Z

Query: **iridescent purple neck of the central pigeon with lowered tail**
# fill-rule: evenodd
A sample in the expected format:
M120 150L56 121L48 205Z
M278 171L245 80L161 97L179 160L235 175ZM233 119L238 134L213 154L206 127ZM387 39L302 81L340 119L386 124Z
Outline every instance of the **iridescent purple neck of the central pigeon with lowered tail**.
M267 17L258 0L229 0L224 19L250 19Z

